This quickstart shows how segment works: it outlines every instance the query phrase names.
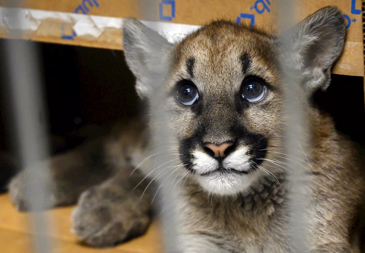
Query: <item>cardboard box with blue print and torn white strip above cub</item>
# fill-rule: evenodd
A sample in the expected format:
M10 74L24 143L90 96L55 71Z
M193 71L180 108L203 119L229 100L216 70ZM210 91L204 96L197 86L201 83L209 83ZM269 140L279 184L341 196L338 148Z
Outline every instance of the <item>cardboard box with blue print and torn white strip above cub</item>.
M11 1L8 1L11 2ZM0 9L0 37L21 30L25 39L80 46L122 49L122 21L132 16L179 40L198 25L214 19L275 28L277 0L27 0L21 9ZM336 5L347 21L345 51L334 68L335 74L364 76L361 0L301 0L293 9L297 21L327 5ZM9 4L9 3L7 3ZM1 2L0 6L5 7ZM141 10L144 10L141 11ZM22 24L11 22L18 15Z

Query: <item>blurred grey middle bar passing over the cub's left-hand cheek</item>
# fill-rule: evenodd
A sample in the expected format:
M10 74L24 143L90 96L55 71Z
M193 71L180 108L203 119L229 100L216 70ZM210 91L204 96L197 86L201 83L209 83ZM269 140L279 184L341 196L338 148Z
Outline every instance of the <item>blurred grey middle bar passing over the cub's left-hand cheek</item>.
M141 17L143 20L147 21L158 21L159 20L159 1L157 0L140 0L141 6ZM157 31L159 29L159 23L154 24ZM167 70L167 68L166 68ZM150 81L154 83L164 84L165 76L161 73L158 76L151 77ZM161 87L161 89L163 89ZM171 156L166 154L166 150L172 150L170 145L167 143L172 143L172 133L166 127L166 122L168 120L168 112L164 103L161 101L165 100L164 92L160 92L159 89L154 91L150 100L150 120L153 125L153 138L155 148L153 149L153 154L160 154L155 159L151 166L154 168L159 167L164 164L165 167L170 166L168 162L171 160ZM161 168L162 169L162 168ZM158 173L158 172L157 172ZM166 253L176 253L176 245L178 244L177 239L177 212L176 212L176 199L178 195L176 192L171 190L173 177L169 177L165 173L162 173L158 179L158 185L161 186L157 191L157 198L155 201L158 203L157 211L159 212L160 224L162 225L163 234L163 245Z

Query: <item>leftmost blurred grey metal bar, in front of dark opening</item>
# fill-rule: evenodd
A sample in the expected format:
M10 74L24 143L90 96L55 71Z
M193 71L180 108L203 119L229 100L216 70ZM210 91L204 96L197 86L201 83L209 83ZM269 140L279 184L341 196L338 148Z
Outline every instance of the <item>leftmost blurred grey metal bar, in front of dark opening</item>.
M21 22L17 9L10 9L11 22ZM11 15L9 15L11 14ZM18 26L19 27L19 26ZM14 32L14 31L13 31ZM15 31L19 32L19 31ZM14 34L12 34L14 37ZM15 34L16 35L16 34ZM19 35L19 34L18 34ZM50 253L47 237L48 220L41 212L47 206L49 170L46 163L39 163L48 154L46 114L43 101L39 54L35 43L25 40L6 40L4 43L7 66L7 90L10 101L8 113L15 120L16 143L24 168L24 197L29 201L34 229L33 251Z

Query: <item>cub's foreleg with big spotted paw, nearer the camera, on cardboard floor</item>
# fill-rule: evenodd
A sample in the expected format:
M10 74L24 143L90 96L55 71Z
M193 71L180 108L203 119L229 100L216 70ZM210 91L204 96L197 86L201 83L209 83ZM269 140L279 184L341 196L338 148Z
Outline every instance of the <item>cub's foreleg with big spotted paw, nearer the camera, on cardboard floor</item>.
M150 181L145 179L134 189L143 176L138 170L130 176L132 170L125 167L81 194L72 214L73 231L80 241L106 247L145 233L150 224L151 185L147 187Z

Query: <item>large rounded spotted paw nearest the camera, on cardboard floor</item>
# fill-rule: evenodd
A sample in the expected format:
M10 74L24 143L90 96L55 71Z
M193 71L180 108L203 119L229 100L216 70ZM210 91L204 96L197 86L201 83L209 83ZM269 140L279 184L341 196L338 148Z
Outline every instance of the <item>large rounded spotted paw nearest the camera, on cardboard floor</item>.
M109 247L139 236L150 223L141 198L95 186L81 194L73 210L73 232L90 246Z

